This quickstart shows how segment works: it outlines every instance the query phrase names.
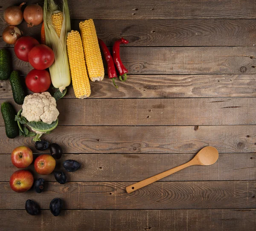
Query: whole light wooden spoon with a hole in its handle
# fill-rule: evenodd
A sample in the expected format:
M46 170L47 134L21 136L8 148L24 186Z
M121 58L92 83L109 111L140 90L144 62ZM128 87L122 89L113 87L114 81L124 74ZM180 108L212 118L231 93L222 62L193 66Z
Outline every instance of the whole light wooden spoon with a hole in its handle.
M177 171L180 171L183 168L189 167L191 165L212 165L218 160L218 150L213 147L205 147L202 148L198 154L195 155L195 157L192 160L189 160L189 162L177 166L175 168L169 169L167 171L164 171L160 174L157 174L153 177L149 177L148 179L142 180L138 183L135 183L133 185L129 185L126 187L126 191L128 193L131 193L139 188L143 188L146 185L149 185L157 180L160 180L164 177L167 177Z

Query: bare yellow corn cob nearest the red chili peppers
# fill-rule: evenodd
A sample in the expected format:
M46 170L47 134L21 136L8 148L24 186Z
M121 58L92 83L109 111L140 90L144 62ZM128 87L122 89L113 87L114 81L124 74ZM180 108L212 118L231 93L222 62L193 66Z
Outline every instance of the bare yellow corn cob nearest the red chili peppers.
M95 80L101 81L104 78L104 66L93 20L89 19L80 22L79 28L90 80L93 82Z

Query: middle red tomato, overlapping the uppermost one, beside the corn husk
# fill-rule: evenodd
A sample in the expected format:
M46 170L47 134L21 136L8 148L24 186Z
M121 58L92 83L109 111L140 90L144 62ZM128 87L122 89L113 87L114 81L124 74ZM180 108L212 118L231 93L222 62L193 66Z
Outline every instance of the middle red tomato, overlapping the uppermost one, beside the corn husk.
M29 63L37 70L44 70L54 62L54 53L49 46L37 45L29 52Z

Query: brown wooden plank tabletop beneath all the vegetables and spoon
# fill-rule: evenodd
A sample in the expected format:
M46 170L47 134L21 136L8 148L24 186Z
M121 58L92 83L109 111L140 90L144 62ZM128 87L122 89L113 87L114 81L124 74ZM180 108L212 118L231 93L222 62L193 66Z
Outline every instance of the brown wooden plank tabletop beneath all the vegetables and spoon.
M0 0L0 16L19 3ZM255 230L255 0L69 0L69 6L72 29L93 18L108 46L120 37L130 41L121 48L128 80L118 81L118 90L107 76L91 83L86 100L75 99L70 86L58 101L59 126L45 138L64 149L57 169L67 159L82 168L65 185L45 176L41 194L9 187L17 170L13 148L36 150L30 138L7 139L0 118L0 230ZM40 26L19 27L40 37ZM0 47L9 47L13 68L26 76L29 63L2 38ZM4 101L15 105L9 81L0 82ZM126 186L185 163L207 145L220 153L214 165L126 193ZM55 197L64 200L59 217L49 211ZM41 215L26 214L27 199L39 203Z

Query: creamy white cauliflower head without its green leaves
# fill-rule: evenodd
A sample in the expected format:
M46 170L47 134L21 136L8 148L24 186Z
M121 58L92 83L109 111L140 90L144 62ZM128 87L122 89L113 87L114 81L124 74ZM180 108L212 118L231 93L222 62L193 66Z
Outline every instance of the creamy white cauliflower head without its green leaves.
M57 120L59 112L56 100L49 92L34 93L25 97L21 115L30 121L51 124Z

